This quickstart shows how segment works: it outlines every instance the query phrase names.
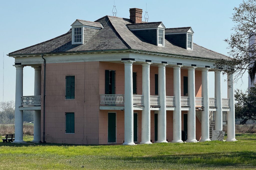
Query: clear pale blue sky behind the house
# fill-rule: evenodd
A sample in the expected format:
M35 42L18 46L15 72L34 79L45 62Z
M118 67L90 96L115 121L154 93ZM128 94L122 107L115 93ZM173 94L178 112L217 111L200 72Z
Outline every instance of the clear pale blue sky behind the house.
M227 55L228 38L234 23L230 19L233 8L242 0L233 1L120 1L115 0L118 17L129 18L129 8L146 9L149 22L162 21L166 28L191 26L194 42L198 45ZM0 2L0 101L3 100L3 52L4 100L15 99L14 59L6 56L9 52L65 34L76 19L95 21L105 15L112 15L114 1L1 1ZM227 97L227 85L222 82L222 97ZM245 90L247 74L235 85ZM24 67L23 95L34 94L34 69ZM210 97L214 97L214 74L209 74Z

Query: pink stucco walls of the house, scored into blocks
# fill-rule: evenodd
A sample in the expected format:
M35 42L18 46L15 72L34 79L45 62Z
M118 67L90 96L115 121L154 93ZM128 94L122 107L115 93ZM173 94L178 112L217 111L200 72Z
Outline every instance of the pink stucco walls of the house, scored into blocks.
M124 94L124 65L110 62L53 63L46 66L46 118L45 137L51 143L107 144L108 112L116 112L116 142L124 140L124 111L99 110L100 94L105 93L105 70L116 71L116 94ZM137 72L137 94L142 94L142 66L133 65ZM42 75L44 73L42 67ZM150 67L151 95L155 95L155 74L157 67ZM75 76L75 99L65 99L66 76ZM183 95L183 76L181 88ZM196 70L196 96L201 97L201 72ZM43 76L42 76L43 95ZM166 95L173 95L173 69L166 68ZM41 102L42 103L42 102ZM41 106L41 132L43 124ZM75 133L65 133L65 113L74 112ZM138 113L138 142L141 140L141 111ZM184 112L185 113L185 112ZM183 119L183 114L182 114ZM183 120L182 120L183 121ZM172 111L167 111L167 139L172 141ZM196 120L197 140L200 139L200 122ZM151 140L154 141L154 111L151 111Z

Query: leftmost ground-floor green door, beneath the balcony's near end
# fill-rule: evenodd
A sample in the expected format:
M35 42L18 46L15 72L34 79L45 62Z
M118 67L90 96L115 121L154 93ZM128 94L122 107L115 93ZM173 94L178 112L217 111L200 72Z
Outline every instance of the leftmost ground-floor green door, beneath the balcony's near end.
M115 113L108 113L108 142L116 142Z

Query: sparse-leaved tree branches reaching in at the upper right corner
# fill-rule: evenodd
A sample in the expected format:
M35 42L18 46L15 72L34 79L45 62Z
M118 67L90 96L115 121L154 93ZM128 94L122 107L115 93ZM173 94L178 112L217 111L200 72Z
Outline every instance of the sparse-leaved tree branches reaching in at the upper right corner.
M241 78L243 73L249 72L253 81L256 73L255 45L248 46L248 42L256 31L256 0L243 1L239 7L234 7L231 18L235 23L230 38L225 39L228 43L230 60L219 60L215 66L223 68L227 73L236 73L235 79ZM250 55L249 55L250 54Z

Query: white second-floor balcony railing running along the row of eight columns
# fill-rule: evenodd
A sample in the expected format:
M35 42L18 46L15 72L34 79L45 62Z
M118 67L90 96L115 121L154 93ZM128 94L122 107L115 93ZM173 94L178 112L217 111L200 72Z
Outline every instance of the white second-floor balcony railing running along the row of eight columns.
M204 98L196 97L195 104L196 107L204 107ZM123 105L124 104L124 94L101 94L100 104L105 105ZM133 94L133 105L143 106L143 95ZM150 96L150 106L159 107L159 96ZM175 107L175 97L166 96L166 106ZM181 106L189 107L189 97L181 97ZM209 107L216 108L216 98L209 98ZM229 108L229 99L222 99L222 107Z

